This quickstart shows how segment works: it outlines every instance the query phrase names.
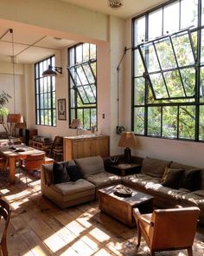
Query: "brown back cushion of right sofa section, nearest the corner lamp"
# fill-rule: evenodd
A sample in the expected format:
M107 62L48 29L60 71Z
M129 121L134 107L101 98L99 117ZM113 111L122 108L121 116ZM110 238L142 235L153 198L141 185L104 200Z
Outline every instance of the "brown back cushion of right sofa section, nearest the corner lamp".
M150 175L155 178L162 178L166 167L169 167L171 161L164 161L155 158L146 157L142 164L142 174Z

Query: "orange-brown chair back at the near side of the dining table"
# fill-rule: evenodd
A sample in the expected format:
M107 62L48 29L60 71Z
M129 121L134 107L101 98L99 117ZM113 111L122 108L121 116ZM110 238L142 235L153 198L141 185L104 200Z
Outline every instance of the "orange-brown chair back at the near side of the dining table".
M45 153L28 154L24 162L24 168L26 170L39 170L41 165L45 162Z

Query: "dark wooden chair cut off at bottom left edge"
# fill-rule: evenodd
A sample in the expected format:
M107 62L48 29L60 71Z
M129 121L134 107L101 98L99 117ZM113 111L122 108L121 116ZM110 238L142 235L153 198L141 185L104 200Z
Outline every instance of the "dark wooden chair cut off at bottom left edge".
M7 250L7 230L8 226L10 224L10 205L0 199L0 222L1 222L1 227L3 227L2 233L2 238L0 242L0 255L7 256L8 255L8 250Z

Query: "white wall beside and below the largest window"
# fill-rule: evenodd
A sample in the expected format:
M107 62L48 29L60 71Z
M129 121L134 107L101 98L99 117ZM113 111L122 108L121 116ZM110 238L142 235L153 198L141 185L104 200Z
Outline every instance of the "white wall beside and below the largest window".
M125 24L126 46L131 46L131 19ZM124 126L131 130L131 51L125 58ZM132 154L179 161L195 167L204 167L204 143L173 141L137 136L137 149Z

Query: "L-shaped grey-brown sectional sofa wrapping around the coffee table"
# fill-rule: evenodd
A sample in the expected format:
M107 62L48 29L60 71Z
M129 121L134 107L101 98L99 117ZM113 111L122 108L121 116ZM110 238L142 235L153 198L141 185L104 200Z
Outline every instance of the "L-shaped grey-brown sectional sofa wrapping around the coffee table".
M200 168L146 157L140 173L120 177L105 171L99 156L69 162L75 164L83 178L58 184L54 184L53 165L41 167L41 193L61 208L95 200L99 188L123 183L153 195L155 207L198 206L200 222L204 224L204 171Z

